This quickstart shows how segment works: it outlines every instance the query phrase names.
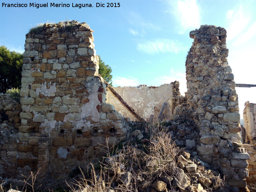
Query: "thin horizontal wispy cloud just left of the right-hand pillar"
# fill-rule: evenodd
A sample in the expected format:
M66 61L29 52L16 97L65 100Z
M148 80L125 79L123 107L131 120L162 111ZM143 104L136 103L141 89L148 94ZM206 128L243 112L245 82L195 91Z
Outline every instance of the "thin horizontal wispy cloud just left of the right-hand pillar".
M159 52L178 53L186 50L186 48L176 40L159 38L139 43L137 45L137 50L152 55Z

